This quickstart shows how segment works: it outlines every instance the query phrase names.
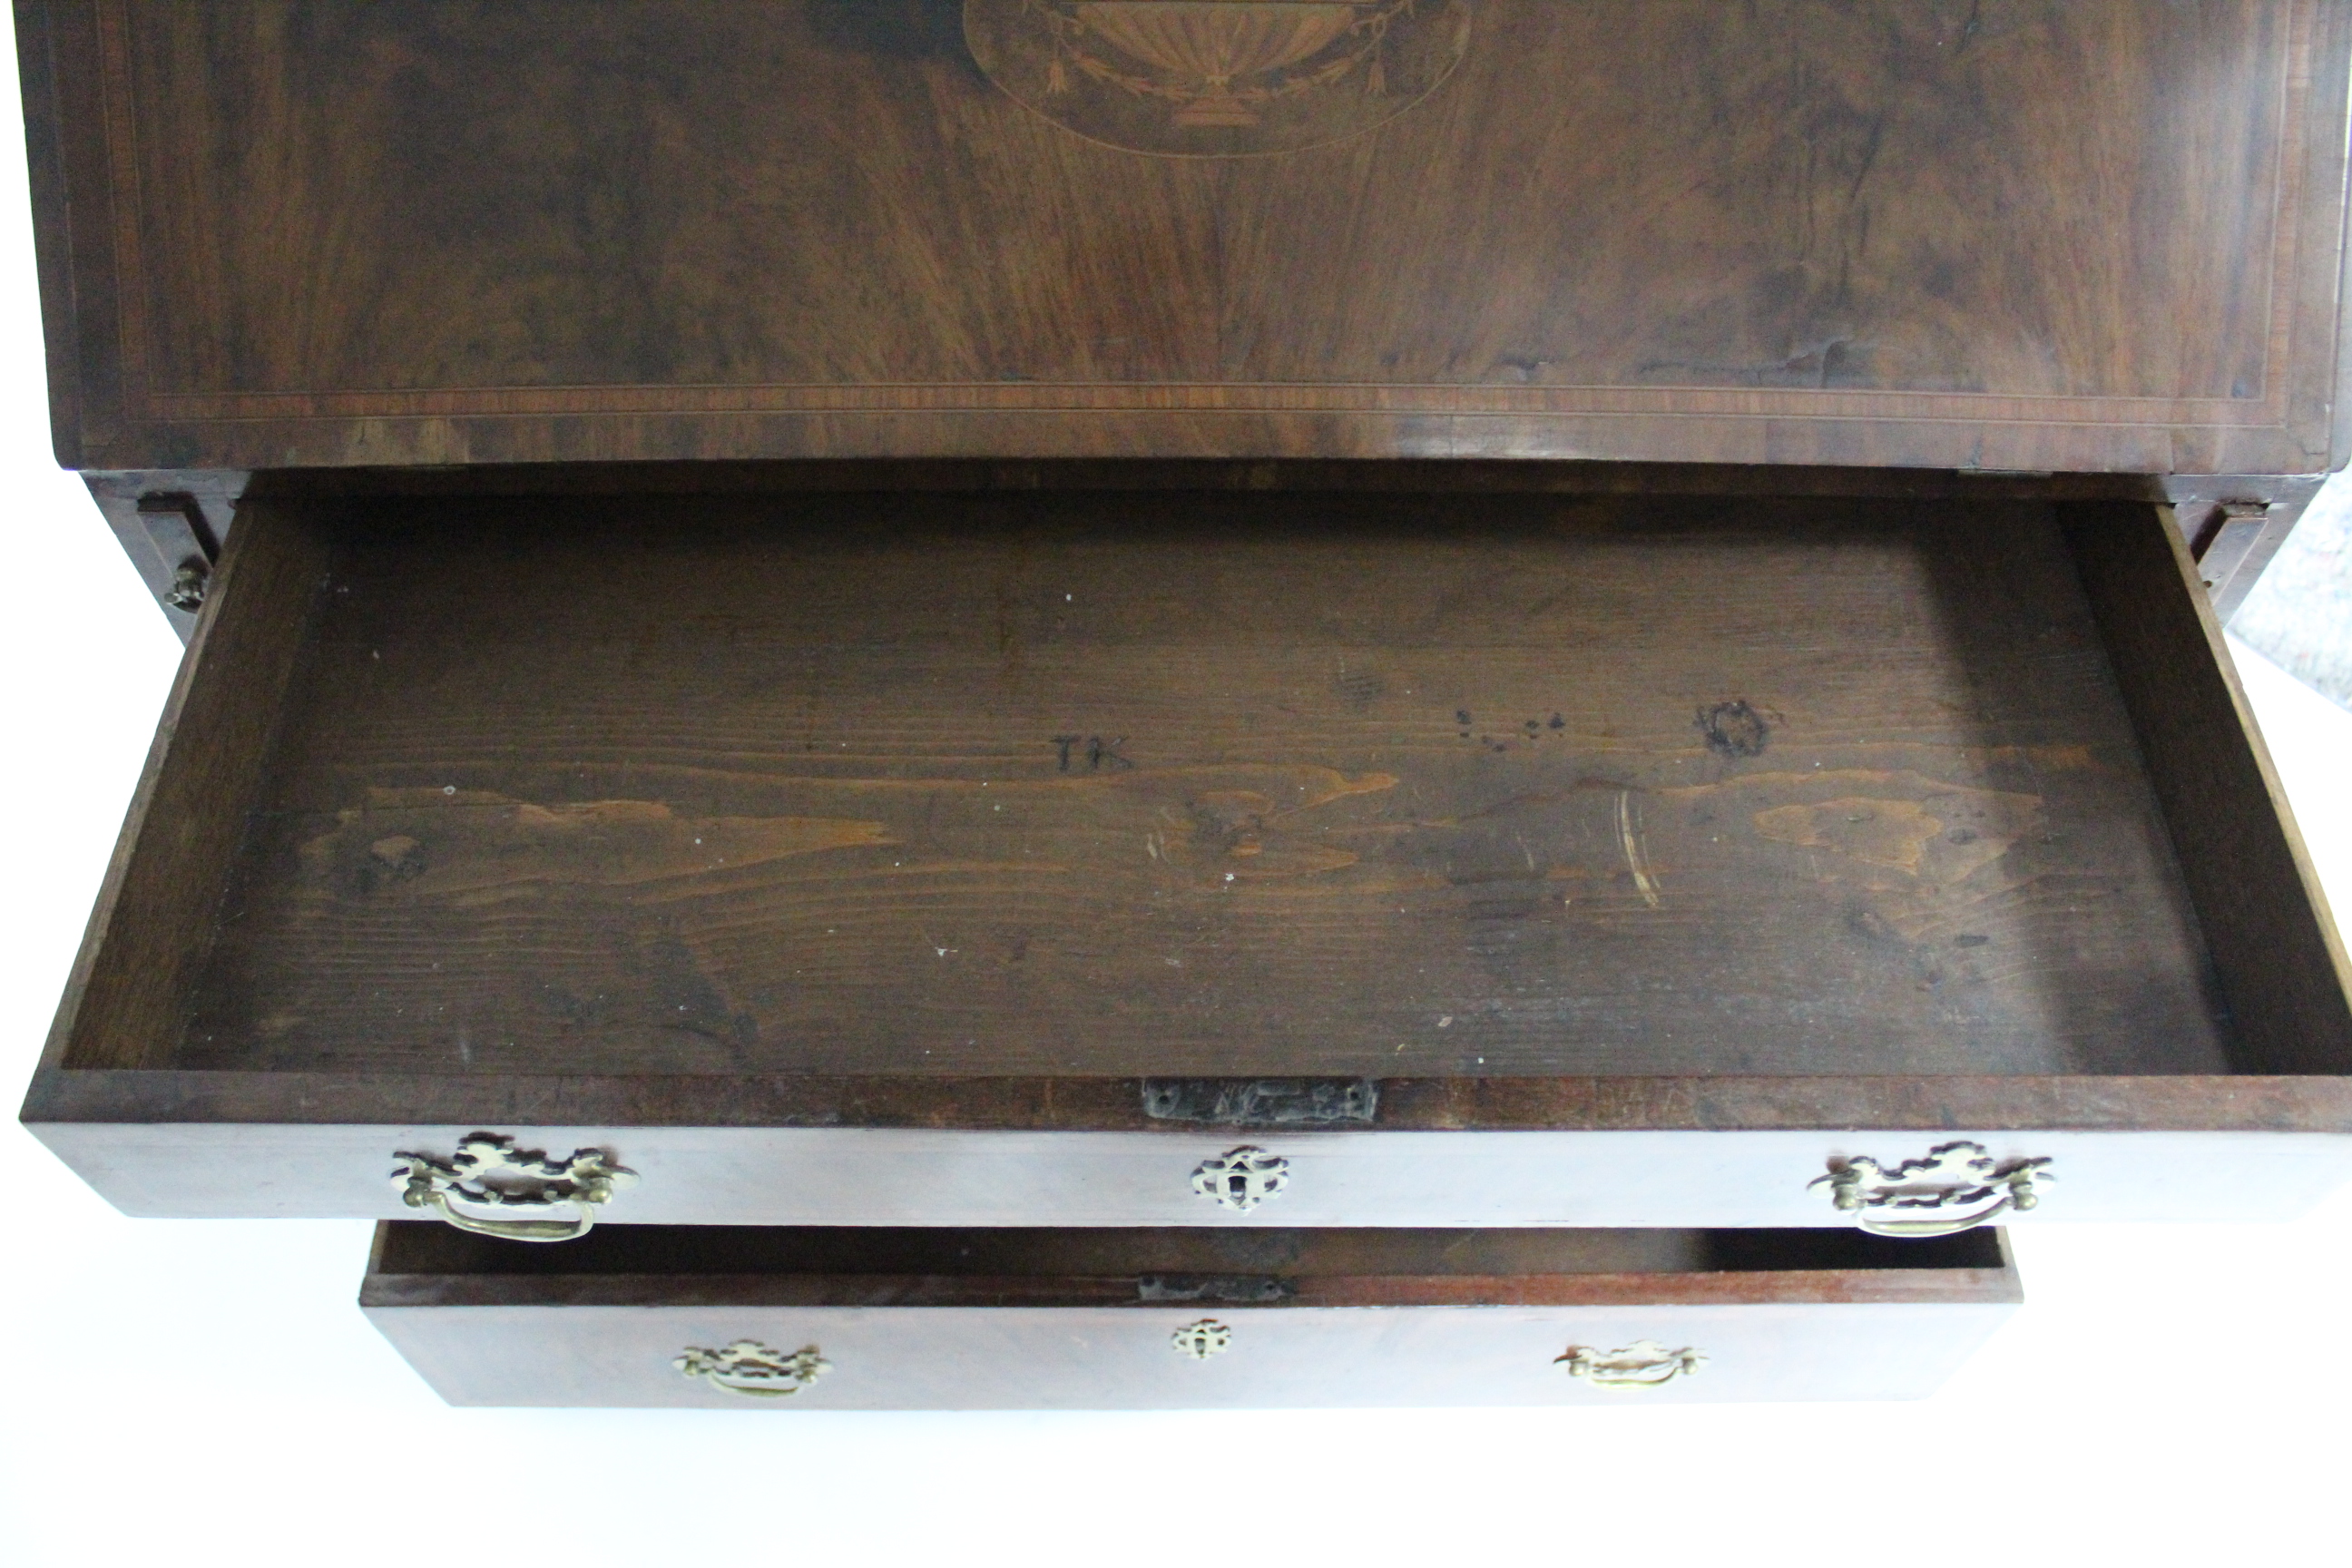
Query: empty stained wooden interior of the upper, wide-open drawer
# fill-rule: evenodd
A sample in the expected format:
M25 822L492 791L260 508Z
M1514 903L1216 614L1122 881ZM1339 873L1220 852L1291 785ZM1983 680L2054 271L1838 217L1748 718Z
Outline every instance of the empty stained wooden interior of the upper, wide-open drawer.
M68 1070L2352 1070L2152 508L282 498L207 614Z

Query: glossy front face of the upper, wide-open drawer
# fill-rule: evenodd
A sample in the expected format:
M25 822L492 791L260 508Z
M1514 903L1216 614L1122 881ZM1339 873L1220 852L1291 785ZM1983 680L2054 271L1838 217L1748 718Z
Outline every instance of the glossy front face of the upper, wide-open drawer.
M409 1161L468 1128L42 1126L134 1215L419 1218ZM1940 1206L1842 1211L1835 1168L1924 1159L1969 1133L929 1133L524 1128L513 1147L609 1150L635 1175L593 1218L619 1225L1788 1225L1858 1220L2286 1220L2352 1178L2352 1138L2293 1133L1976 1133L1994 1168L2042 1159L2020 1213L1955 1190ZM1202 1192L1235 1150L1282 1161L1244 1204ZM1240 1161L1235 1161L1240 1164ZM1947 1178L1936 1178L1945 1180ZM1207 1182L1216 1187L1218 1182ZM1915 1182L1917 1187L1917 1182ZM1223 1197L1232 1199L1228 1190ZM1912 1197L1922 1197L1912 1192ZM482 1208L489 1220L569 1222Z

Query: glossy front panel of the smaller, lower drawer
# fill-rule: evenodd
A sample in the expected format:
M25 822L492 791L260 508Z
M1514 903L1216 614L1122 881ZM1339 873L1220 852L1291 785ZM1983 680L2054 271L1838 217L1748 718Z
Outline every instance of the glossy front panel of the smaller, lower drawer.
M1150 1410L1922 1399L2009 1312L2002 1302L1397 1309L1192 1302L372 1307L369 1319L459 1406ZM741 1340L786 1356L814 1347L828 1366L776 1399L729 1394L673 1366L689 1349ZM1200 1354L1202 1345L1209 1354ZM1590 1371L1569 1371L1576 1349L1592 1352L1602 1382ZM1651 1385L1672 1352L1684 1349L1703 1359Z

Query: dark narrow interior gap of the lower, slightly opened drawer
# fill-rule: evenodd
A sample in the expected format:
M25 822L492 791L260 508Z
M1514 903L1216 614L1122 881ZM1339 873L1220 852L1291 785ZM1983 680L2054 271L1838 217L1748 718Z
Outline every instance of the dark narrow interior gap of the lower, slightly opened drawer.
M1773 1279L1780 1276L1780 1279ZM1804 1276L1804 1279L1788 1279ZM1837 1276L1830 1286L1825 1276ZM649 1300L788 1288L809 1305L1319 1305L1778 1300L1790 1291L2016 1300L1999 1229L1896 1241L1851 1229L868 1229L607 1225L567 1246L383 1222L362 1305Z

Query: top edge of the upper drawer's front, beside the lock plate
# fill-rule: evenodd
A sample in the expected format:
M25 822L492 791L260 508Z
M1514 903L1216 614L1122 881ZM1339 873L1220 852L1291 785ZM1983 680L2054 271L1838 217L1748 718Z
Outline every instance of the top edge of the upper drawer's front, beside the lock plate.
M94 1152L122 1126L325 1128L891 1128L1171 1133L1145 1112L1157 1079L840 1077L816 1072L348 1072L85 1067L59 1051L26 1093L24 1121ZM1242 1079L1256 1081L1256 1079ZM1211 1128L1216 1124L1209 1124ZM1232 1124L1249 1126L1249 1124ZM2343 1074L1644 1074L1383 1077L1385 1131L2053 1128L2086 1133L2352 1133ZM200 1145L158 1135L169 1180ZM287 1147L313 1140L294 1138ZM560 1138L557 1138L560 1143ZM675 1140L666 1140L673 1147ZM212 1147L205 1143L202 1147ZM259 1145L254 1145L259 1147ZM675 1147L696 1147L687 1135ZM720 1157L724 1145L701 1145ZM146 1159L143 1157L143 1159ZM73 1164L80 1164L78 1159ZM303 1211L336 1213L336 1211Z

